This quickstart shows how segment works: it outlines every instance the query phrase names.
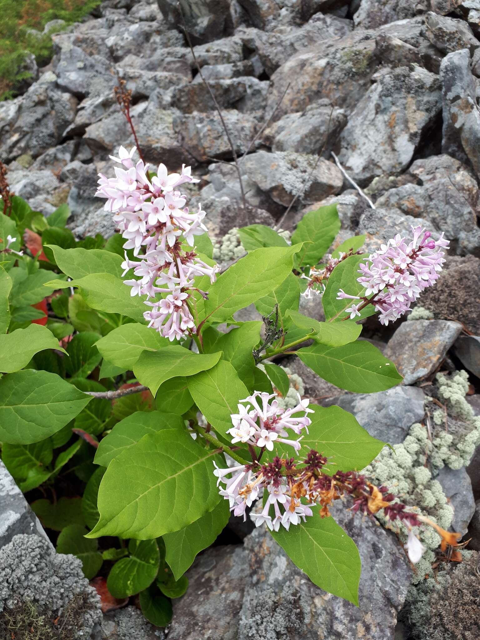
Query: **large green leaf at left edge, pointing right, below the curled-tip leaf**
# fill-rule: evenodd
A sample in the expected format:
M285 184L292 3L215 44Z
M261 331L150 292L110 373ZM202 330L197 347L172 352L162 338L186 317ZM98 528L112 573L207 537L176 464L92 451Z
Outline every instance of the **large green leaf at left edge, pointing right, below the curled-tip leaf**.
M25 369L0 380L0 441L32 444L59 431L92 396L59 376Z

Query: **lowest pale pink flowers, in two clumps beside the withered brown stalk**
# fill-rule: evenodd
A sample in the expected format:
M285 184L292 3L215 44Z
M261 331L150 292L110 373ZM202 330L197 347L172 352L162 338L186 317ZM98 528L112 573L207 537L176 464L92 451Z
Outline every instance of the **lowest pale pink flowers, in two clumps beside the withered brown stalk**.
M301 400L298 396L297 406L285 410L278 406L276 399L270 402L275 397L276 394L255 391L252 396L241 401L246 405L237 405L238 413L230 416L233 427L227 431L232 436L232 444L242 442L273 451L274 443L279 442L293 447L295 453L299 451L301 438L285 438L289 435L286 429L291 429L297 435L303 429L308 433L308 426L311 424L308 413L313 413L312 409L308 409L309 401ZM300 413L303 415L295 415ZM255 518L256 526L265 522L271 531L278 531L280 525L288 530L291 524L299 524L302 519L305 521L306 516L311 516L312 509L290 495L287 478L275 472L275 460L278 459L274 459L274 463L263 465L257 472L248 464L221 469L214 463L214 475L218 477L217 486L225 484L219 493L228 500L230 511L234 515L243 516L246 520L246 508L252 506L265 490L268 492L268 499L262 513L251 515ZM275 512L273 518L269 515L271 506Z

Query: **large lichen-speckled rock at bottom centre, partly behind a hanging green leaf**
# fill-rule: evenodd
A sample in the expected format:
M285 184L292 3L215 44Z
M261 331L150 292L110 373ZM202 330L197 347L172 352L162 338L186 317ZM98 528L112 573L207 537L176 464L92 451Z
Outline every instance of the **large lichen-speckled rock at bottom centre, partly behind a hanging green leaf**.
M264 527L244 547L207 550L173 601L169 640L393 640L412 572L395 536L335 504L335 518L362 557L360 607L319 589Z

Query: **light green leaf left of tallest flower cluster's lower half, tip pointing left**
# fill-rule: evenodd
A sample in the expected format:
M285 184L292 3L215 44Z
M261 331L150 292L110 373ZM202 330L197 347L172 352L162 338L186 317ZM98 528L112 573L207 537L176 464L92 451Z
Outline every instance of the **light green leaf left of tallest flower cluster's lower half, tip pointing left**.
M123 314L136 322L144 321L143 312L146 307L143 299L131 296L131 287L127 287L120 278L111 273L90 273L70 282L52 280L48 285L54 289L78 287L89 307L108 313Z

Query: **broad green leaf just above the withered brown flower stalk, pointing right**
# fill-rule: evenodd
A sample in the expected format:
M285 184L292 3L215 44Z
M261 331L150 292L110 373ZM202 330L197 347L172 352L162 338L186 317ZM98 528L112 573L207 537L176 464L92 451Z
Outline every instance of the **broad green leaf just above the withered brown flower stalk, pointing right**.
M310 404L314 413L308 417L312 424L308 427L308 433L302 433L301 449L298 458L304 460L308 451L314 449L328 458L328 465L324 472L334 474L335 471L360 471L378 456L385 446L385 442L373 438L355 417L341 409L339 406L324 408L317 404ZM294 433L289 435L292 440L298 440L300 436ZM274 456L286 458L291 454L291 447L278 444L268 454L271 460Z

